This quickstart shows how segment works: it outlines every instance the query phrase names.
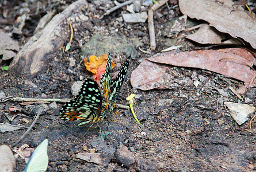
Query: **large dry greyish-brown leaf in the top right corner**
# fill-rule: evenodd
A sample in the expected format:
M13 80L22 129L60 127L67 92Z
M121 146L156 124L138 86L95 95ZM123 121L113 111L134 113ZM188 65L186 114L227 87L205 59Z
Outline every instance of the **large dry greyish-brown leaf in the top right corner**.
M180 0L179 8L190 18L203 19L220 32L243 38L256 49L256 19L250 13L234 9L232 1ZM233 3L234 4L234 3Z

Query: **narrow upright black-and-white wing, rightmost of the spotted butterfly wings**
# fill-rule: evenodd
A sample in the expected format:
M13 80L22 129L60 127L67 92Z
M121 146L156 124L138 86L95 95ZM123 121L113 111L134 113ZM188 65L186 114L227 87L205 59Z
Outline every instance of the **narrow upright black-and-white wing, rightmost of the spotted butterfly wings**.
M116 98L119 95L119 91L123 85L124 78L126 76L130 61L131 61L131 55L129 55L129 57L125 60L124 65L122 66L119 74L117 74L116 78L113 81L111 81L110 96L109 96L110 102L116 101Z

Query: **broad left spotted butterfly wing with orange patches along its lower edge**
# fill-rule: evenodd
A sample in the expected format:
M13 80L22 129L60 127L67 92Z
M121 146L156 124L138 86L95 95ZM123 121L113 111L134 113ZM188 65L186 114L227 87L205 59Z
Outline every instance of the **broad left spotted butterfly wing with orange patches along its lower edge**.
M79 126L86 123L99 122L105 118L102 111L102 98L98 84L91 79L83 82L82 88L75 99L64 104L60 110L63 120L83 120Z

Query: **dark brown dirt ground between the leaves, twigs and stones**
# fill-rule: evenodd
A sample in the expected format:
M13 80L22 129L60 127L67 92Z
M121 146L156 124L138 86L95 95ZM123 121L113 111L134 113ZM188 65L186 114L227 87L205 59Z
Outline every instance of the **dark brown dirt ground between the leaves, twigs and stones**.
M18 11L25 9L22 7L24 2L14 1L15 6L2 5L1 9L9 7L12 9L9 11L9 15L13 17ZM39 2L41 6L38 5ZM72 2L74 1L32 1L27 6L30 9L26 13L30 13L30 18L26 21L22 34L13 34L13 39L17 40L22 48L22 45L33 35L33 30L35 30L39 19L48 10L56 9L59 13ZM126 38L129 41L136 37L142 43L142 49L150 48L147 22L139 24L123 22L123 25L115 25L116 18L121 17L121 13L125 9L116 10L104 18L99 18L104 14L106 6L113 6L113 2L87 1L87 3L88 8L84 9L84 13L90 15L88 25L74 24L77 27L71 49L67 53L59 49L58 52L51 55L53 60L49 62L47 70L32 79L1 71L1 92L6 96L13 97L72 98L72 84L80 80L81 76L83 79L91 77L90 72L86 71L81 62L81 46L79 46L81 42L79 40L83 40L82 44L85 44L96 33L100 33L102 36ZM38 12L37 15L33 15L35 10ZM162 7L158 13L163 16L161 19L155 18L154 20L156 50L152 51L152 54L137 50L137 55L132 57L127 77L116 100L117 103L128 105L125 98L131 93L135 93L137 95L135 113L144 127L135 121L129 110L120 109L110 114L105 123L100 123L102 132L106 136L99 136L100 130L97 125L91 127L85 134L90 125L78 127L76 122L59 119L58 115L62 104L58 104L57 108L45 110L32 131L16 147L26 143L35 148L47 138L49 140L47 171L255 171L255 129L253 133L250 132L249 121L238 126L223 104L224 101L245 103L249 99L248 104L255 107L255 88L250 88L242 95L243 100L239 100L234 93L227 89L227 86L232 85L234 88L239 88L243 85L242 82L201 69L180 67L170 68L177 74L174 82L178 83L179 87L152 91L132 88L129 82L132 71L144 58L151 57L167 48L168 42L178 42L178 45L182 45L181 50L183 51L199 46L185 40L181 35L177 37L162 36L161 30L163 29L161 27L167 27L175 17L182 14L176 10L171 15L167 7ZM193 22L192 19L190 21ZM2 22L1 29L12 32L13 25L15 22L9 24ZM112 32L113 28L118 29L119 32ZM121 60L117 60L117 56L121 56ZM122 54L122 52L113 53L112 59L119 64L120 69L127 56L128 54ZM70 57L75 58L77 65L74 67L69 65ZM119 69L114 68L113 72L119 71ZM194 87L192 78L195 76L205 78L202 87ZM37 87L27 84L26 80L36 84ZM181 82L182 80L192 82L184 84ZM224 89L228 96L221 95L217 88ZM40 105L42 104L29 105L29 108L37 110ZM48 105L45 106L48 107ZM1 103L1 123L8 123L5 115L10 118L14 115L4 111L9 107L25 108L24 105L13 101ZM36 113L36 110L33 112ZM33 115L29 116L28 114L16 115L11 124L29 127L34 118ZM249 116L249 119L252 116L253 114ZM30 122L26 123L21 120L24 118ZM255 128L255 124L253 124L253 128ZM24 132L25 130L17 130L1 133L0 144L12 146ZM128 162L122 163L116 155L113 156L121 143L131 151L135 163L125 166L125 163ZM100 153L113 156L113 158L106 165L98 165L76 158L78 153ZM25 165L24 159L18 157L15 171L24 170Z

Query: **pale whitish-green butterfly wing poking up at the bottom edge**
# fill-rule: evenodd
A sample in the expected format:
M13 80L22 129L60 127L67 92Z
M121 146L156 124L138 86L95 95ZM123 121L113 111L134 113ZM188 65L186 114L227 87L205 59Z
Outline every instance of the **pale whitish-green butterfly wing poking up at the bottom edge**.
M39 146L36 147L35 151L31 155L28 164L26 165L25 172L44 172L48 166L48 155L47 155L48 139L45 139Z

